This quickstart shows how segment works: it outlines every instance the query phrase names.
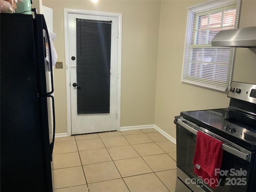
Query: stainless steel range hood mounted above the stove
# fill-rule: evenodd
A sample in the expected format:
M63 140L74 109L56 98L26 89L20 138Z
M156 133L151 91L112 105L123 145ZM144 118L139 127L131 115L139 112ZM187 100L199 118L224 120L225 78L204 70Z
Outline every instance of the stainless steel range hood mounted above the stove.
M212 46L256 47L256 26L221 30L212 39Z

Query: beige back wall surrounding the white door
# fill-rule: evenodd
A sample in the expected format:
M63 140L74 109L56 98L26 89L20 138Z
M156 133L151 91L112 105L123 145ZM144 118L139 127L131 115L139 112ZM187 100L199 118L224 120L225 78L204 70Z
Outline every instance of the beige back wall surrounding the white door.
M53 9L54 45L65 64L63 8L122 13L121 126L154 124L160 1L43 0ZM67 132L66 70L54 69L56 133Z

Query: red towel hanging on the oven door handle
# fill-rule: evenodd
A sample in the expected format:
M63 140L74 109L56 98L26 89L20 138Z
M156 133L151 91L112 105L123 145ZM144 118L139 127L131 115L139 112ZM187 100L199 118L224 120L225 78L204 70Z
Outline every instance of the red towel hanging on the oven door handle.
M216 188L219 174L215 169L220 168L223 150L222 141L214 139L201 131L196 135L196 149L193 159L194 173L201 176L204 181L215 179L215 183L209 182L208 185Z

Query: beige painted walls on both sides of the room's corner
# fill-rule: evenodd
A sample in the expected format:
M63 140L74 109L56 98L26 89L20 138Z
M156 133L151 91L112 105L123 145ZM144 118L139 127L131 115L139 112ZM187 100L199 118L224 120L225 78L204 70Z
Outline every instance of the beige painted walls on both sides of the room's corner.
M226 94L182 84L188 6L202 0L43 0L53 9L58 61L65 64L63 8L123 15L121 126L156 124L176 138L174 116L184 110L227 107ZM256 1L243 0L240 27L256 26ZM256 84L255 48L237 48L233 80ZM54 70L56 133L67 132L65 68Z

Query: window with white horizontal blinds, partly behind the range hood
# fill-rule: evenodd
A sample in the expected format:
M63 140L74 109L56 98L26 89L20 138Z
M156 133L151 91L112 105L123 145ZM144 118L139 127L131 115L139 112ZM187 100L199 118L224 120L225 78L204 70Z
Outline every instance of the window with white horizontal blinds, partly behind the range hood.
M212 47L211 41L220 30L237 28L239 11L240 0L209 1L188 8L183 83L228 91L235 48Z

